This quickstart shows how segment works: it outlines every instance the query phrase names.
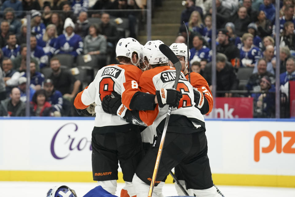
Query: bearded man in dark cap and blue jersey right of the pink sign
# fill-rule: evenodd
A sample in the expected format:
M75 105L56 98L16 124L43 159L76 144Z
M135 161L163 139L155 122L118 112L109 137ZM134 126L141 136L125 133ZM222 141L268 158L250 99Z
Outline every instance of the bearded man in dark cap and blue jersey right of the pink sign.
M254 118L274 118L275 114L275 94L269 93L272 88L271 81L268 76L264 76L260 79L261 93L253 93L254 104ZM272 88L272 92L274 89ZM271 90L270 90L271 91Z

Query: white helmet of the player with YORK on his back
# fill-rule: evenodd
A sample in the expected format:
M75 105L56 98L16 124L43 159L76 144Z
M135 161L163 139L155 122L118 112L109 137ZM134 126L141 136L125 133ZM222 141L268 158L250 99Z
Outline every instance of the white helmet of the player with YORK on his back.
M116 56L124 56L131 59L132 62L132 53L136 52L138 54L138 61L133 63L134 65L138 65L140 57L142 57L142 49L141 44L134 38L121 38L116 46Z

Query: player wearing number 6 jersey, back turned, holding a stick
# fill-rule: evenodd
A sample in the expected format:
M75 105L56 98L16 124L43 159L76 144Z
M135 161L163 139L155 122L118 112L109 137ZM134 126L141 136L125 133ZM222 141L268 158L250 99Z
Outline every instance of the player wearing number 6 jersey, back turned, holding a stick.
M156 94L157 100L162 100L162 103L165 103L169 89L162 88L160 93L160 88L172 88L175 69L167 66L167 58L159 51L159 45L162 43L161 41L149 41L145 44L144 64L151 69L143 72L139 79L139 85L142 92ZM207 156L204 117L201 111L194 107L195 102L199 104L199 100L195 101L193 87L183 73L180 74L177 90L182 92L183 98L171 112L155 185L163 180L173 167L179 166L187 183L187 189L192 189L197 196L217 196ZM130 96L130 103L124 103L126 100L123 98L122 103L130 106L138 102L136 100ZM168 110L168 105L162 103L159 102L154 110L149 111L126 110L125 115L121 115L121 117L124 117L127 122L144 126L154 123L158 139L160 139ZM158 148L159 140L136 168L132 183L136 188L137 197L144 197L148 194ZM155 195L154 193L153 196Z

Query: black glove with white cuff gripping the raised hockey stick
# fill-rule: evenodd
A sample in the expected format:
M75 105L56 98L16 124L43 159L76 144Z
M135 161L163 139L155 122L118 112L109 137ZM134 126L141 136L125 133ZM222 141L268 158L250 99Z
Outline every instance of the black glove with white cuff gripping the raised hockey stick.
M160 90L156 90L156 97L159 107L164 107L166 104L172 105L172 107L178 107L182 94L177 90L161 88Z

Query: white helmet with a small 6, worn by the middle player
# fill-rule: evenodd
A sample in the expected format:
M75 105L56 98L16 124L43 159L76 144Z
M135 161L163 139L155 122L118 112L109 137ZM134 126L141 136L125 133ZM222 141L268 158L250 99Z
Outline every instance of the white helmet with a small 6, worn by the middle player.
M167 63L167 57L160 51L159 46L164 44L160 40L151 40L144 45L143 57L147 57L150 65Z

